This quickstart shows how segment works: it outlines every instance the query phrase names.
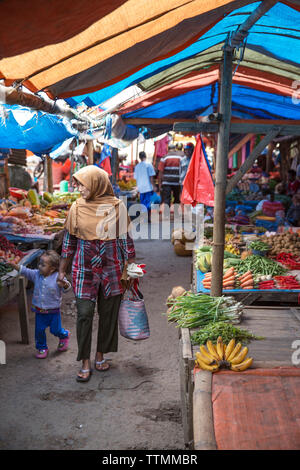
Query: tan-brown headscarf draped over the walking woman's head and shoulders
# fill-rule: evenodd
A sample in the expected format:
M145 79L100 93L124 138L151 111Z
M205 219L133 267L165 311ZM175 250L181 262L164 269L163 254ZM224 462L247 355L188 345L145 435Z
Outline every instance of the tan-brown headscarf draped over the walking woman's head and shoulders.
M106 171L88 165L73 177L90 191L71 206L65 228L82 240L113 240L127 234L130 219L125 204L114 196Z

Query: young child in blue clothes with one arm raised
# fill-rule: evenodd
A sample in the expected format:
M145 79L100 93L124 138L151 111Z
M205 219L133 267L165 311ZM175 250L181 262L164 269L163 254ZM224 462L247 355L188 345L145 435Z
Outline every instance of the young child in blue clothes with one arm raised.
M60 306L62 292L67 292L71 284L65 281L57 283L60 257L54 250L48 250L40 258L38 269L29 269L22 265L10 263L22 276L34 284L32 311L35 312L36 358L48 356L46 328L59 338L58 351L68 349L70 332L61 326Z

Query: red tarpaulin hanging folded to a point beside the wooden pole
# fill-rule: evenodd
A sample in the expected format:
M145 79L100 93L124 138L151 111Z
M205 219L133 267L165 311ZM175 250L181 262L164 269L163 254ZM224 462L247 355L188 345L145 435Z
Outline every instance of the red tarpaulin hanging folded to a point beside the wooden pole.
M196 147L183 182L182 204L214 205L214 183L200 134L196 136Z

